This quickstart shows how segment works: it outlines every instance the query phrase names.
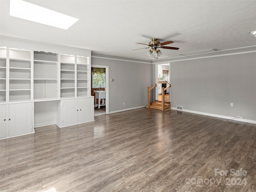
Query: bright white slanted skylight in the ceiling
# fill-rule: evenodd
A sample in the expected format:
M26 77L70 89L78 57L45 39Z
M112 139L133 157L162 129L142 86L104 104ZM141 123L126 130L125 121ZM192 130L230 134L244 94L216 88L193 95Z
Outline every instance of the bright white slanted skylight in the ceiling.
M66 30L78 21L77 18L22 0L10 0L10 16Z

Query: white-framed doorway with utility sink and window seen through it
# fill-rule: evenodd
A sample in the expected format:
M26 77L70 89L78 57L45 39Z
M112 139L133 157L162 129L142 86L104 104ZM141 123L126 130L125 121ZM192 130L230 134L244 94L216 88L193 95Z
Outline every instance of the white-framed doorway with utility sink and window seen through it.
M92 65L92 68L96 68L96 70L94 70L94 72L91 69L91 95L95 96L95 91L100 90L100 92L98 92L98 96L104 94L103 92L105 92L105 98L101 99L100 97L100 102L97 99L95 102L95 97L94 97L94 116L98 116L98 115L102 115L102 114L109 114L109 82L108 82L108 77L109 77L109 71L108 71L108 66L104 66L104 65ZM97 68L99 70L97 70ZM100 70L100 69L104 69L104 70ZM101 74L103 71L105 71L105 82L102 83L102 81L96 81L97 78L95 78L95 83L93 85L93 75L95 74L95 71L101 71L98 72L98 74ZM94 75L95 76L95 75ZM101 77L102 78L102 77ZM96 85L97 84L97 85ZM102 104L103 103L103 104Z

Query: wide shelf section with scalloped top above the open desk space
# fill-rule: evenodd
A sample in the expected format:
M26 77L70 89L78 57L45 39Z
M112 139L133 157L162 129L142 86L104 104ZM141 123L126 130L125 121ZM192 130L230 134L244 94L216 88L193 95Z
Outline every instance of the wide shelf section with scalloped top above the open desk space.
M58 54L34 51L34 100L58 98Z

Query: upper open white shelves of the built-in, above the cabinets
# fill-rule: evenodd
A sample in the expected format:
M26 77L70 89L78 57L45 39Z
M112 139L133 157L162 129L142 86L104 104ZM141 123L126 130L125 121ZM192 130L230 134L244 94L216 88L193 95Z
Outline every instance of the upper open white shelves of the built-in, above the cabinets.
M90 96L88 57L0 48L0 102Z

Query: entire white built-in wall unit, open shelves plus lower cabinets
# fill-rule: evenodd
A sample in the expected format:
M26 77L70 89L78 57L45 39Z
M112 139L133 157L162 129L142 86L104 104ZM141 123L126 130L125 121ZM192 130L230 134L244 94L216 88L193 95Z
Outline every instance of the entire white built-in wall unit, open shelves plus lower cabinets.
M94 120L89 58L0 47L0 139Z

